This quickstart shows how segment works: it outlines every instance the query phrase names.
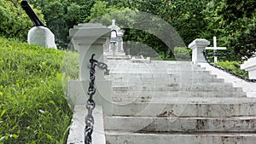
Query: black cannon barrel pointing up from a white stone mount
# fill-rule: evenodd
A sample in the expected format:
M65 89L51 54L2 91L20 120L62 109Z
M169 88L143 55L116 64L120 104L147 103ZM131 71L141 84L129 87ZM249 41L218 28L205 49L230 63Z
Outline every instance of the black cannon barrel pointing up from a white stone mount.
M26 14L29 16L30 20L32 20L34 26L44 26L43 22L38 18L38 15L33 11L26 0L23 0L20 4L21 7L26 11Z

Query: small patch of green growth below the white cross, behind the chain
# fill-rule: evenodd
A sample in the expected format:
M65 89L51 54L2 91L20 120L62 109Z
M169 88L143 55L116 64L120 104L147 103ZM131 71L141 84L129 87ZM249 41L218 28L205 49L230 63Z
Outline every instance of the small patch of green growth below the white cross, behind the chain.
M215 63L215 65L221 66L225 70L236 73L237 75L240 75L244 78L247 78L248 77L248 72L244 71L244 70L241 70L241 68L240 68L241 64L242 64L241 61L228 61L228 60L218 61L218 63Z

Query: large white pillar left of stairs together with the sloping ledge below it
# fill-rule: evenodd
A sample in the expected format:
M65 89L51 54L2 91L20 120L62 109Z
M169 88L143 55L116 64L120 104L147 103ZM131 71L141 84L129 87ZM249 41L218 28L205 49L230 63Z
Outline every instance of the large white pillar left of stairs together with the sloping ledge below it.
M69 81L67 95L74 103L73 125L70 129L67 143L79 143L84 141L84 118L87 109L85 102L88 100L87 89L89 87L90 58L95 54L94 59L103 61L103 49L108 46L110 29L102 24L79 24L73 26L69 31L75 50L79 51L79 80ZM93 100L96 101L96 108L93 111L95 127L92 135L93 143L105 143L103 130L103 114L112 114L111 88L108 80L104 78L103 70L96 67L96 94ZM103 109L103 110L102 110ZM104 112L104 113L103 113Z

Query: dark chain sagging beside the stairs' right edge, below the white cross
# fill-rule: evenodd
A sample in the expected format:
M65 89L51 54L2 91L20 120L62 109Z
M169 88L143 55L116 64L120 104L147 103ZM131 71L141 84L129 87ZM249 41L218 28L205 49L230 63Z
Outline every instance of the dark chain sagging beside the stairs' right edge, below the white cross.
M236 73L234 73L234 72L228 71L228 70L224 69L224 68L221 67L221 66L216 66L216 65L212 64L212 63L210 62L210 60L207 59L207 52L206 52L205 50L203 50L202 53L203 53L203 55L204 55L204 57L205 57L205 59L207 60L207 63L208 63L209 65L214 66L214 67L216 67L216 68L218 68L218 69L220 69L220 70L222 70L222 71L224 71L224 72L228 72L228 73L230 73L231 75L235 76L236 78L241 78L241 79L243 79L243 80L245 80L245 81L247 81L247 82L256 83L256 79L245 78L245 77L243 77L243 76L241 76L241 75L238 75L238 74L236 74ZM216 55L216 54L214 54L214 55Z

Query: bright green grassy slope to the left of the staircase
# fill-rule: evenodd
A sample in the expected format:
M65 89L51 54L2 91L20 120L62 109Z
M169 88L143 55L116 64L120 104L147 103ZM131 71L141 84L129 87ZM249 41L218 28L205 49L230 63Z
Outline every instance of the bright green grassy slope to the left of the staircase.
M62 88L64 51L0 38L0 143L63 143L72 112Z

